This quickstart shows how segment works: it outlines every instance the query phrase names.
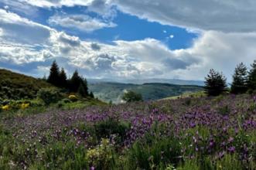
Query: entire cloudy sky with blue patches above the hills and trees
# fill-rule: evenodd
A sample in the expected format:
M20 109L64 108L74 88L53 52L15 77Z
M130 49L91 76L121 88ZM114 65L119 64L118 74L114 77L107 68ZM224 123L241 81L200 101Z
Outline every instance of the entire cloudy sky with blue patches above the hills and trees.
M256 59L256 1L0 0L0 67L43 77L232 80Z

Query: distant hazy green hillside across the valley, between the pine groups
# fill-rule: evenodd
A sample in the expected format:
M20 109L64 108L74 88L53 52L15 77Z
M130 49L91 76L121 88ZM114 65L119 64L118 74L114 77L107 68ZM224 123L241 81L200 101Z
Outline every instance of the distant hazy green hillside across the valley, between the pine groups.
M125 90L133 90L142 93L143 100L159 100L166 97L178 96L182 93L203 90L203 87L193 85L174 85L169 83L89 83L89 90L100 100L112 101L117 104L121 102L121 96Z

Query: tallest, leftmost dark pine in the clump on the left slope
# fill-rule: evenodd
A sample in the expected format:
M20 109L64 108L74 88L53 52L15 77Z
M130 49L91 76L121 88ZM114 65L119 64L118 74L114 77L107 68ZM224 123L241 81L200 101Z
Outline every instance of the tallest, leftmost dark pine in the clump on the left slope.
M60 86L60 70L59 70L59 66L56 63L56 60L53 61L53 64L49 70L49 76L47 79L48 83L53 84L56 87Z

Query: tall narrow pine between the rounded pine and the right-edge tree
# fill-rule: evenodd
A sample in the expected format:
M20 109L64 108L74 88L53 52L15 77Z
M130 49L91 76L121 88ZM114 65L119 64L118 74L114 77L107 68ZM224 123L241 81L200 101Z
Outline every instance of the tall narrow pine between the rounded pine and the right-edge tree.
M247 91L247 68L240 63L234 70L231 93L245 93Z

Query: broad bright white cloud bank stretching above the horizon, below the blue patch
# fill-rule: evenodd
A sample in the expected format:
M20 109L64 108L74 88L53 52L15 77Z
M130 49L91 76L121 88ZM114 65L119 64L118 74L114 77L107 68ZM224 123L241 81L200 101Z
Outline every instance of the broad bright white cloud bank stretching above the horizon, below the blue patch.
M0 15L1 63L26 66L54 58L70 73L79 68L87 77L203 80L214 68L230 80L234 66L240 62L249 65L256 53L255 32L205 31L190 48L171 50L156 39L117 40L112 45L83 41L12 12L0 10ZM42 66L37 69L44 74Z

